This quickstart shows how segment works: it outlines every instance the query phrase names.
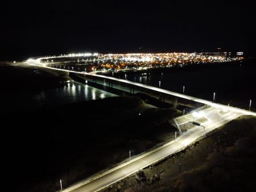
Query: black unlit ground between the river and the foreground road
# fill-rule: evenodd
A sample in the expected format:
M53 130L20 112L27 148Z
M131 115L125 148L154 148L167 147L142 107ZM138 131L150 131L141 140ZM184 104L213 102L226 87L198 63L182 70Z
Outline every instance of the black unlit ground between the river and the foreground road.
M141 113L141 115L138 115ZM171 108L113 97L2 115L2 160L15 191L55 191L174 137ZM35 186L35 187L34 187Z

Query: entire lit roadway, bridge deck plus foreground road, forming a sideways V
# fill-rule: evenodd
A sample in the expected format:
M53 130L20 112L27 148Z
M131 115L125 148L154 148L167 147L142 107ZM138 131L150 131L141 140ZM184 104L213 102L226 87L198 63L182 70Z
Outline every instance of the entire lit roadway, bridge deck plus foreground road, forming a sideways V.
M28 63L28 64L36 65L38 63ZM44 67L49 68L47 66L44 66ZM162 158L167 157L183 149L184 147L186 147L187 145L191 144L193 141L198 139L200 136L202 136L204 131L205 133L212 131L214 130L214 128L220 127L223 124L226 124L230 122L230 120L236 119L238 116L241 116L241 115L256 116L255 112L242 110L240 108L220 105L218 103L213 103L204 99L199 99L199 98L191 97L191 96L180 94L180 93L175 93L172 91L160 89L153 86L139 84L136 82L121 80L119 78L101 76L98 74L91 74L91 73L85 73L85 72L75 72L72 70L64 70L64 69L56 69L56 68L49 68L49 69L86 74L89 76L101 77L101 78L105 78L113 81L125 82L126 84L131 84L131 85L155 90L155 91L158 91L159 93L170 94L176 97L189 99L192 101L204 103L206 105L211 106L210 108L205 110L203 114L204 118L207 119L207 122L201 123L201 125L205 127L205 130L203 127L193 127L188 131L182 133L179 137L176 138L176 140L173 140L170 143L164 144L161 147L158 147L156 149L153 149L152 151L144 153L136 158L133 158L130 161L123 162L123 164L118 165L115 168L106 170L105 172L102 172L100 174L96 174L95 176L92 176L84 181L80 181L75 185L72 185L67 189L63 190L65 192L98 191L98 190L104 189L106 186L109 186L112 183L121 180L122 178L130 176L131 174L137 172L139 169L143 169L146 166L151 165L154 162L157 162ZM227 111L227 112L220 115L220 111Z

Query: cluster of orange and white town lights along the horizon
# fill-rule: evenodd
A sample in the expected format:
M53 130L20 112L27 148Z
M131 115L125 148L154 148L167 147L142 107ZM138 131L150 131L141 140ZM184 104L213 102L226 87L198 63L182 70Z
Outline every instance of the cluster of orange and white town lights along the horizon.
M205 53L71 53L60 56L44 56L28 59L28 63L49 65L84 65L89 71L105 70L142 70L188 64L229 62L242 60L242 52L232 56L231 52Z

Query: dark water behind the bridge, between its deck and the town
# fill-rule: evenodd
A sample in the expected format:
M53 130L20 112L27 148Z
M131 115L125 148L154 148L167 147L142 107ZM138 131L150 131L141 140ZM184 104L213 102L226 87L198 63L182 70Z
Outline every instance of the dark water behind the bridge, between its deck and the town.
M115 77L140 82L155 87L213 100L218 103L246 108L249 100L256 102L255 65L229 63L188 66L186 68L159 69L149 72L115 73ZM111 75L111 74L110 74ZM252 107L254 102L252 102Z

